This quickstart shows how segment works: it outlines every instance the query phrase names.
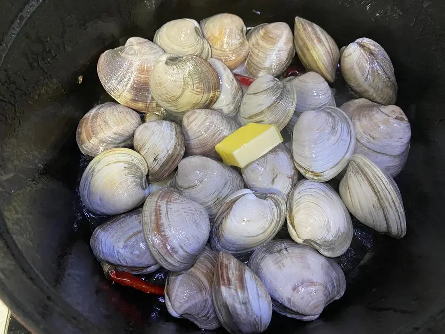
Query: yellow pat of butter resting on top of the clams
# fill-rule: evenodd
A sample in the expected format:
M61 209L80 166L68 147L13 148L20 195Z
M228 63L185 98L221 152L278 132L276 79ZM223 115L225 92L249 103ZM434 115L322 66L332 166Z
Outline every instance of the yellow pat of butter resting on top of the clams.
M282 141L275 124L249 123L216 144L215 150L227 165L243 168Z

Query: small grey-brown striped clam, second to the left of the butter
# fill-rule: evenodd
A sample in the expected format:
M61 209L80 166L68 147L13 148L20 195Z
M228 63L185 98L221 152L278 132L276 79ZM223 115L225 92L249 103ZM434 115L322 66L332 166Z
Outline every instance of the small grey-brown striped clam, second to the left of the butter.
M149 182L160 181L173 172L184 156L184 135L173 122L143 123L134 132L134 149L147 162Z

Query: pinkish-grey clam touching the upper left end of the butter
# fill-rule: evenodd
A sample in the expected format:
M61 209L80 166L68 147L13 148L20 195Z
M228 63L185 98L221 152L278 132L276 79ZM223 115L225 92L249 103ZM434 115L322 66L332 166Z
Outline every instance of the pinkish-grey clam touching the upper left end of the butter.
M215 145L238 129L238 123L215 110L187 111L182 119L185 151L188 155L204 155L221 159Z

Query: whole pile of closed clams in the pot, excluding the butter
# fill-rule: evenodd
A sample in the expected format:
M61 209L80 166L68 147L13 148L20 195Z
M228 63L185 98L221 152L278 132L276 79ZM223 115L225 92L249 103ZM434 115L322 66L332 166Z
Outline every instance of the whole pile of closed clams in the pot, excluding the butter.
M307 72L283 78L293 61ZM223 13L167 22L153 42L129 38L100 56L97 71L118 103L79 123L77 143L93 158L79 193L90 212L117 216L91 247L121 271L168 270L172 316L230 333L266 330L272 310L317 319L346 289L336 258L351 244L350 214L406 234L393 177L411 130L377 42L339 50L300 17L294 32L275 22L247 33ZM253 83L242 87L238 74ZM340 107L329 86L336 75L356 97ZM247 123L275 124L291 140L244 168L225 165L215 145ZM277 239L284 224L289 238Z

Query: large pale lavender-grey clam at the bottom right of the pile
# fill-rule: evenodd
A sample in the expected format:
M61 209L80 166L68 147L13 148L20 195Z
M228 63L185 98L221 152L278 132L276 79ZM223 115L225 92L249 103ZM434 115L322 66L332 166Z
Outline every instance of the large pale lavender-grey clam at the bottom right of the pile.
M274 240L249 260L272 297L273 309L285 316L311 321L345 293L346 280L332 259L291 240Z

